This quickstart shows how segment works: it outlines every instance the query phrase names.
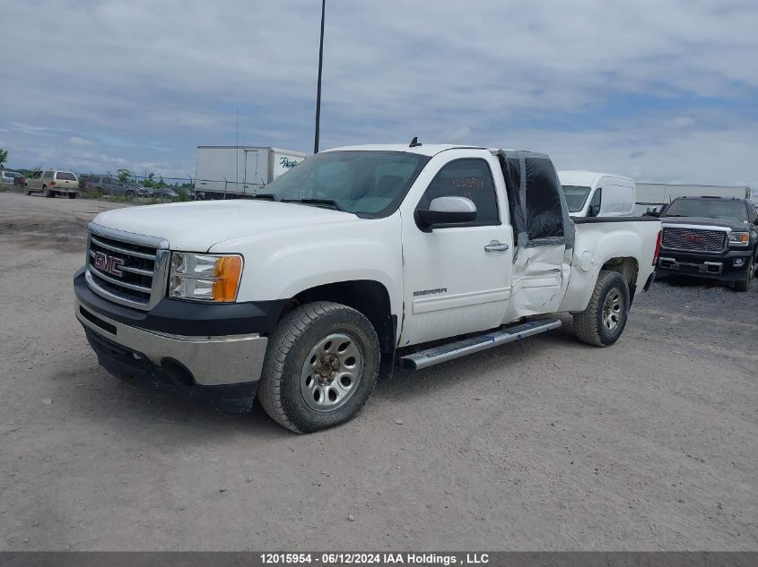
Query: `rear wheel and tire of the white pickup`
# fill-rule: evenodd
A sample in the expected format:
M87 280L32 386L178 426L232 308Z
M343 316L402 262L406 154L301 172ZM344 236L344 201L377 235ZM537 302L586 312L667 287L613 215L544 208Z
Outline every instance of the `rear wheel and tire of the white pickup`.
M614 305L618 306L617 309ZM617 271L601 270L587 309L574 314L577 338L596 347L614 344L626 326L629 306L629 288L622 275Z

